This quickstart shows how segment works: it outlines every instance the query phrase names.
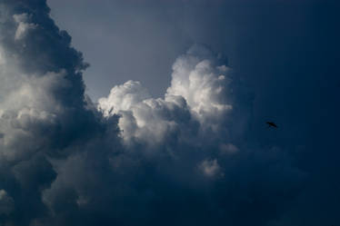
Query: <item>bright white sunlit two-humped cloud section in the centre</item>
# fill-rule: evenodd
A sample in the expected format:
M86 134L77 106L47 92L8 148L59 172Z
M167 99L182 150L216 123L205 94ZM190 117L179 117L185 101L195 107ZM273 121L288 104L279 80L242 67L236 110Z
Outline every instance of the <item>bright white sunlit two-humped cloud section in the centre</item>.
M211 50L195 45L175 61L165 98L151 98L139 82L128 81L99 99L99 110L106 117L121 115L125 142L162 145L170 134L195 142L204 136L210 142L225 129L225 118L233 110L226 98L230 69L218 63Z

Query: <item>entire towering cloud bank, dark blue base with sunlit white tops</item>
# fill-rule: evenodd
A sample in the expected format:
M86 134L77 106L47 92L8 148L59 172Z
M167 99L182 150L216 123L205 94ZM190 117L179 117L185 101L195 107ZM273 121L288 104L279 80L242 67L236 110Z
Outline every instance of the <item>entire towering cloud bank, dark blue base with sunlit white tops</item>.
M237 79L208 47L164 98L128 81L95 105L45 1L0 3L1 223L264 225L301 189L283 148L240 142Z

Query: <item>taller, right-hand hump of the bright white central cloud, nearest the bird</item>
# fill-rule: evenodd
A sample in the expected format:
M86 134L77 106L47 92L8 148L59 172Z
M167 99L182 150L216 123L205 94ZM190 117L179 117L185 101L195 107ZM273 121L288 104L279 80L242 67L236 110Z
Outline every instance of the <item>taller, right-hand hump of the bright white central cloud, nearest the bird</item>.
M229 88L230 69L218 63L209 49L195 45L175 61L173 79L165 97L183 96L201 123L211 123L213 118L221 121L233 106L227 102L225 90Z

